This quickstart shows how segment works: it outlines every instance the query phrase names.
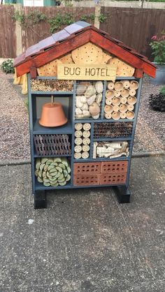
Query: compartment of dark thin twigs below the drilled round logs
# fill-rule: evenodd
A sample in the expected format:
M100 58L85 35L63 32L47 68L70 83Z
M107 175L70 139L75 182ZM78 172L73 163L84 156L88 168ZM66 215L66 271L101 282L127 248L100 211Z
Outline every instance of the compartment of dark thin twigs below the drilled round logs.
M94 138L131 137L133 122L94 123Z

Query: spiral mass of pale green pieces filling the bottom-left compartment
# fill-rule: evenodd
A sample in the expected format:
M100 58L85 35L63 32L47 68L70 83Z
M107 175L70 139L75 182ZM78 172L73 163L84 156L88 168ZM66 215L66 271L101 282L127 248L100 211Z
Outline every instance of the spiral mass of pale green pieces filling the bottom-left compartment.
M36 159L35 175L45 187L64 186L71 180L71 168L66 157Z

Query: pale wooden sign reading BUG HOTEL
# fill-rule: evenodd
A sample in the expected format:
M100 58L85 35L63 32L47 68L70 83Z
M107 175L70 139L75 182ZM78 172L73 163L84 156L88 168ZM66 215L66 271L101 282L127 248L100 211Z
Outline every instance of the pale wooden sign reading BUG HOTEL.
M57 79L115 81L116 71L113 65L57 64Z

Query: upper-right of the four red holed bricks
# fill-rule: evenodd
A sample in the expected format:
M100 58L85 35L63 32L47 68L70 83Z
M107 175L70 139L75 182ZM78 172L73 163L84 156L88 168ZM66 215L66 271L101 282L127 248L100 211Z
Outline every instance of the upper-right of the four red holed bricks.
M103 161L101 162L101 174L103 173L127 173L128 161Z

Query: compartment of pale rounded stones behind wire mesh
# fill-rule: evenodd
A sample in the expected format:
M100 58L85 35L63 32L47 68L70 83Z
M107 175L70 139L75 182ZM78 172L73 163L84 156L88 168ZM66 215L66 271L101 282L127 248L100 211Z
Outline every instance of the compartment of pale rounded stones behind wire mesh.
M103 81L76 82L75 119L101 117L103 89Z

